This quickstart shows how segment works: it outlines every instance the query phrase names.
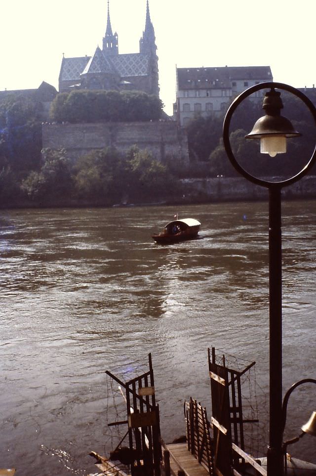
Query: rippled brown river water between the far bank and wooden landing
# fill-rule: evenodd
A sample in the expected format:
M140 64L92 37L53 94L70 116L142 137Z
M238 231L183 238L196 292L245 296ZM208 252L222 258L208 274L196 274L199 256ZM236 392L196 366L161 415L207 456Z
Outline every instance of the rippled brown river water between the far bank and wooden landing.
M200 239L162 247L151 234L178 212ZM283 387L316 378L316 202L286 202L283 224ZM268 204L0 212L0 468L17 475L95 472L124 420L117 384L152 352L161 433L185 433L183 402L208 409L207 348L245 378L249 451L266 451L269 382ZM230 357L232 356L232 357ZM237 358L234 359L235 356ZM251 397L251 401L250 401ZM248 401L249 400L249 401ZM289 402L285 437L300 433L315 388ZM121 431L124 433L124 429ZM315 438L291 454L316 463Z

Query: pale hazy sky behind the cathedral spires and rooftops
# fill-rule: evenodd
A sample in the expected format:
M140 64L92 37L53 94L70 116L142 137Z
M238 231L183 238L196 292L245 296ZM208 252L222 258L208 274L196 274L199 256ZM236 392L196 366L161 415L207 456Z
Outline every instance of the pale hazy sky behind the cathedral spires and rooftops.
M274 80L316 84L316 0L150 0L160 97L172 112L175 67L266 66ZM110 0L120 53L139 51L146 0ZM107 0L2 0L0 90L58 88L62 54L102 46Z

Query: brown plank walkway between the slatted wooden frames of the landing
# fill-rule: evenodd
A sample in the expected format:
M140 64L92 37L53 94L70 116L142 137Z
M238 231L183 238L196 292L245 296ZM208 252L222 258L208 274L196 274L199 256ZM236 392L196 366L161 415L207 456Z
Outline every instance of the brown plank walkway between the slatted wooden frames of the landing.
M186 476L206 476L208 471L201 466L197 458L188 450L187 443L167 444L170 453L170 468L174 475L182 470Z

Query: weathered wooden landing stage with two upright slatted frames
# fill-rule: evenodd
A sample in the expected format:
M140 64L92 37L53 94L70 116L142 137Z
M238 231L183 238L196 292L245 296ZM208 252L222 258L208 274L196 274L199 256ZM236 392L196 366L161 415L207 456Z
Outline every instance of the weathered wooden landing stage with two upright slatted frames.
M100 475L241 476L248 474L249 469L252 475L267 475L260 461L246 453L244 443L243 425L258 420L243 416L241 376L255 362L237 371L226 365L224 355L218 361L214 347L208 349L212 416L208 419L206 407L190 397L190 401L184 403L185 442L165 444L160 436L151 354L148 360L149 371L126 382L106 371L118 383L127 412L126 420L114 421L108 426L126 425L127 428L108 459L90 453L97 459ZM125 465L126 473L112 461Z

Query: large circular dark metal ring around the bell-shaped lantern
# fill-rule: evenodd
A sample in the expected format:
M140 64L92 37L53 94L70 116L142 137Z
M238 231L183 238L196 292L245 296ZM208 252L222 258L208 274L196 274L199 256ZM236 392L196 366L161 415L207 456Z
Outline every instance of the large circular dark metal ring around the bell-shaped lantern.
M303 175L305 175L311 169L311 167L314 165L314 163L316 161L316 145L315 145L314 152L313 152L311 158L309 159L307 164L303 167L303 169L300 172L298 172L296 175L294 175L290 178L287 178L285 180L281 180L279 182L272 182L270 180L263 180L261 178L257 178L254 175L251 175L251 173L248 173L247 171L245 171L239 165L239 163L237 162L237 160L234 156L234 153L232 151L232 147L231 147L231 143L230 143L230 139L229 139L231 120L232 120L233 114L236 111L239 104L246 97L250 96L254 92L259 91L261 89L268 89L268 88L283 89L283 90L288 91L288 92L294 94L295 96L297 96L299 99L301 99L306 104L306 106L310 110L310 112L311 112L311 114L314 118L314 121L316 123L316 108L315 108L314 104L312 103L312 101L305 94L303 94L301 91L299 91L295 87L288 86L288 85L283 84L283 83L273 83L273 82L271 82L271 83L260 83L260 84L255 85L255 86L248 87L248 89L246 89L241 94L239 94L239 96L237 96L237 98L232 102L232 104L228 108L228 111L227 111L225 119L224 119L224 124L223 124L223 141L224 141L224 147L225 147L226 153L228 155L228 158L231 161L234 168L237 170L237 172L239 172L247 180L249 180L250 182L255 183L256 185L261 185L262 187L267 187L267 188L273 188L273 187L281 188L281 187L284 187L286 185L291 185L292 183L296 182L297 180L299 180Z

